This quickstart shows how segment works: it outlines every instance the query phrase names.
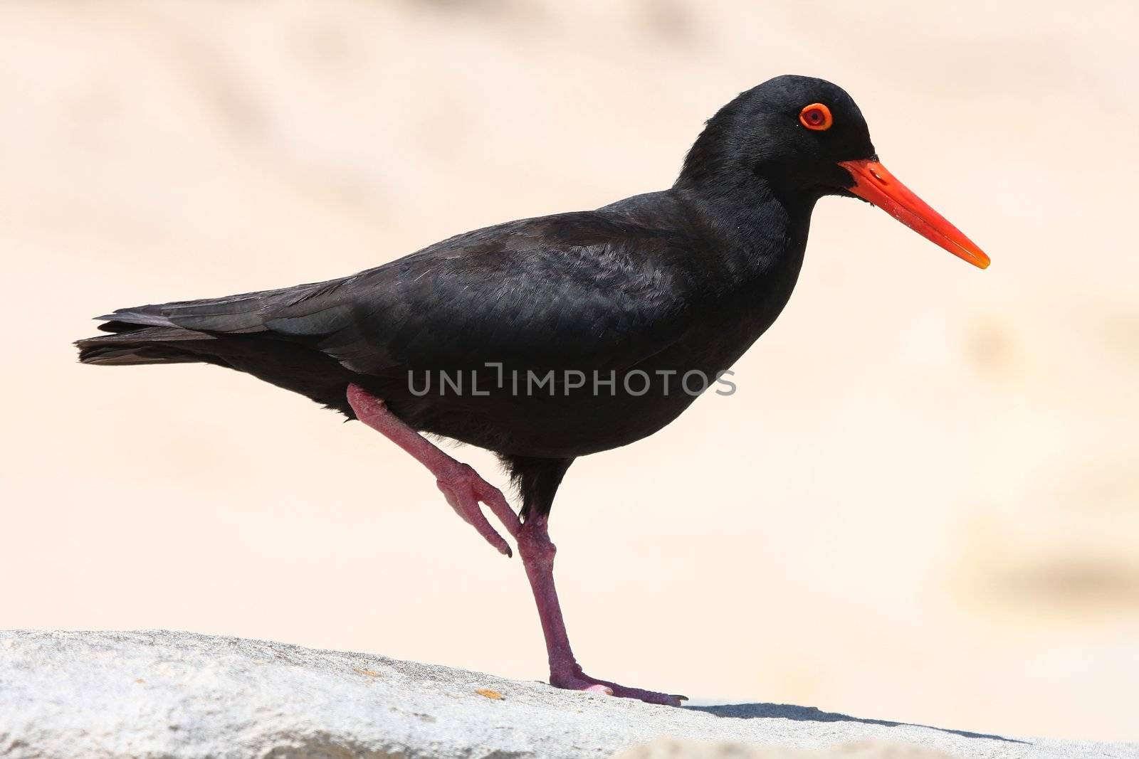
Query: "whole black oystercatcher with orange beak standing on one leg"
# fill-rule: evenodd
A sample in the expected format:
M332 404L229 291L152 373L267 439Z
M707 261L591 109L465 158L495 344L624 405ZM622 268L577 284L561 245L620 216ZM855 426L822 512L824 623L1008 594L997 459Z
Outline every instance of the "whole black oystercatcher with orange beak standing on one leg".
M969 263L989 258L887 172L841 88L779 76L720 109L671 189L458 234L343 279L121 308L89 364L204 362L294 390L382 432L492 546L518 544L550 683L654 703L585 675L554 587L547 521L577 456L675 419L786 305L814 203L859 197ZM494 452L507 500L420 432Z

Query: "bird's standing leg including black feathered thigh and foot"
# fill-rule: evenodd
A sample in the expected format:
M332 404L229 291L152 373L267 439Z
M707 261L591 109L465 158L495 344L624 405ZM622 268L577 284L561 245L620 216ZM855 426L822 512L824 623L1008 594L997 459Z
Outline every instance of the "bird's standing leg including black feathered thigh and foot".
M534 591L534 601L538 603L538 617L542 622L546 651L550 659L550 685L572 691L591 691L625 699L639 699L648 703L679 707L685 696L626 687L590 677L582 671L581 665L573 655L573 649L570 647L570 636L566 634L565 620L562 618L558 592L554 586L554 555L557 553L557 548L550 541L548 529L554 493L557 490L570 461L551 462L548 468L534 468L533 461L530 460L530 465L525 468L528 471L524 471L519 477L525 500L523 506L525 521L517 535L518 554L522 556L526 577L530 579L530 587ZM515 471L517 472L518 469L516 468Z

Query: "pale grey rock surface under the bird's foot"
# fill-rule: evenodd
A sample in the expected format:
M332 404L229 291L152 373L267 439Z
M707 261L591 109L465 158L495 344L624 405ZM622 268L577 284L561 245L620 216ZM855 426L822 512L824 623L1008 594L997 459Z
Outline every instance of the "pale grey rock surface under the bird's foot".
M0 757L9 759L576 759L618 751L644 759L1139 758L1139 744L978 735L768 703L673 709L190 633L0 633Z

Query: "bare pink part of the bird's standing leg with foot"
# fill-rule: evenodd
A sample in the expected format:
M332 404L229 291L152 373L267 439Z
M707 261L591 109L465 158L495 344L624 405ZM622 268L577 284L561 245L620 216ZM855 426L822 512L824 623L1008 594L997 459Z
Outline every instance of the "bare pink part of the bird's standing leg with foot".
M625 687L596 679L581 670L581 665L574 659L573 650L570 647L570 636L566 634L562 607L558 604L558 592L554 587L554 554L557 553L557 548L550 542L547 519L546 514L531 515L522 526L517 538L518 553L522 555L523 567L526 568L530 586L534 591L538 616L542 621L542 633L546 635L546 651L550 657L550 685L679 707L685 699L682 695Z

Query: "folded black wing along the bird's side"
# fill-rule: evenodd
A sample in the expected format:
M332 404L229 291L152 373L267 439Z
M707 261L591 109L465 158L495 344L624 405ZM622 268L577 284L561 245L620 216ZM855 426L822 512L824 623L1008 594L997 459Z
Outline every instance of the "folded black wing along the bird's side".
M370 374L407 368L620 369L685 329L682 236L582 212L443 240L352 277L214 300L126 308L105 319L264 333Z

